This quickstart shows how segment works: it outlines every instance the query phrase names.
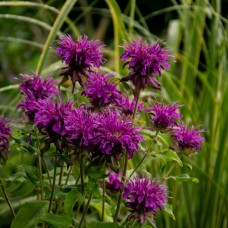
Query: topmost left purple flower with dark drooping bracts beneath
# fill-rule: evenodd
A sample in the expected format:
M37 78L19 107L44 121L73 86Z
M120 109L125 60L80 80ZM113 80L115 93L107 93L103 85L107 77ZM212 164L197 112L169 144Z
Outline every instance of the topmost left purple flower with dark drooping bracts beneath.
M68 75L73 83L78 81L81 86L84 85L83 76L93 71L92 67L100 67L104 61L101 48L103 43L99 40L89 41L87 36L80 37L73 41L70 35L62 36L59 40L59 47L56 48L56 55L62 58L67 67L63 67L60 75L63 75L63 82L67 80Z

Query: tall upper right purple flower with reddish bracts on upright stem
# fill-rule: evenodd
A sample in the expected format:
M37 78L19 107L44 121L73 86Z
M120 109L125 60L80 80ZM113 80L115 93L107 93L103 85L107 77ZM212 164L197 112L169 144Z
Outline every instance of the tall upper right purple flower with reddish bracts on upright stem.
M124 53L121 55L121 60L124 61L124 66L128 65L131 73L122 78L121 81L131 80L137 90L144 89L147 85L160 89L161 85L154 77L155 74L161 76L162 69L169 69L168 60L172 58L168 54L167 49L162 49L160 45L132 41L129 45L123 46Z

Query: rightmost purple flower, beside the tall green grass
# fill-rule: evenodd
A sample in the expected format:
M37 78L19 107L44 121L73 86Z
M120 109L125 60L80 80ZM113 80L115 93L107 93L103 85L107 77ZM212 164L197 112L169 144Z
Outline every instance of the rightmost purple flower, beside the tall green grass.
M173 132L171 137L176 139L181 151L190 154L201 149L200 142L204 142L204 138L200 133L205 132L204 130L197 130L194 126L189 129L187 125L180 123L173 129Z

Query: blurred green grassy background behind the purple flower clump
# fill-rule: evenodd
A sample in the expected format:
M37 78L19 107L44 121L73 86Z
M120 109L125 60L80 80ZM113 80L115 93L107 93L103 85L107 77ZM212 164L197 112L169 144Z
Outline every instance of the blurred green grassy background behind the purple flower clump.
M56 45L58 35L69 33L76 39L86 34L101 39L109 50L105 67L123 75L118 56L125 40L134 36L148 42L162 40L176 61L161 78L162 91L156 95L185 104L185 121L206 130L206 143L190 159L191 176L199 183L168 181L176 220L159 215L157 227L226 228L227 16L228 0L1 1L0 114L11 118L15 128L19 126L16 78L20 73L57 77L61 62L53 58L50 46ZM145 91L143 96L150 95L153 91ZM0 217L2 211L0 207Z

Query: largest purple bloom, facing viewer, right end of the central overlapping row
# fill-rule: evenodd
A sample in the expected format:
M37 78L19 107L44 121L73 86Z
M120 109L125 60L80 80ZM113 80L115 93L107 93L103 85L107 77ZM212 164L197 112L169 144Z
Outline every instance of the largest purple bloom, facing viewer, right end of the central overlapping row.
M96 151L107 159L118 159L127 150L128 157L132 158L134 151L138 151L138 143L143 141L139 128L132 126L132 121L118 116L116 112L99 115L96 121L96 135L93 140Z

